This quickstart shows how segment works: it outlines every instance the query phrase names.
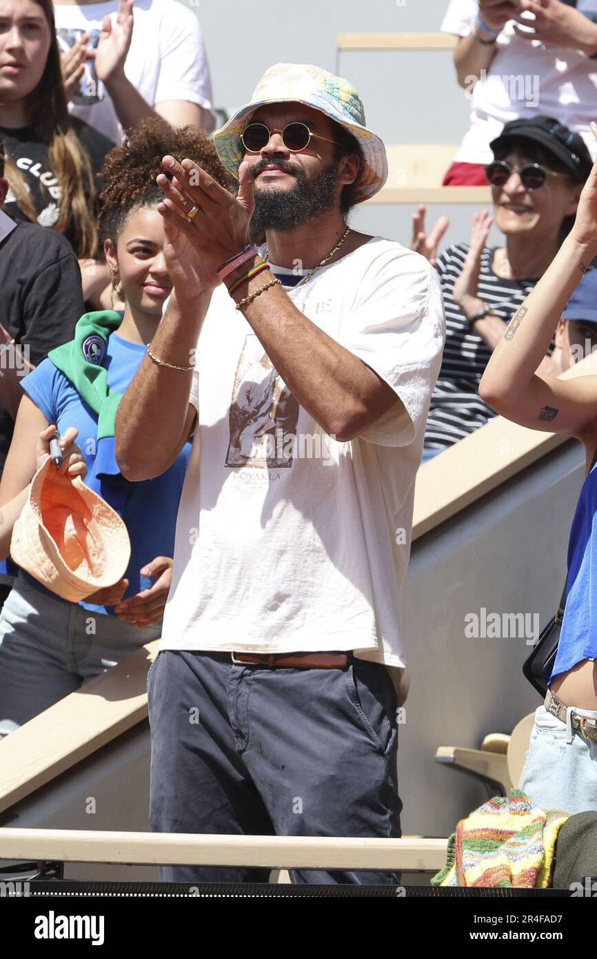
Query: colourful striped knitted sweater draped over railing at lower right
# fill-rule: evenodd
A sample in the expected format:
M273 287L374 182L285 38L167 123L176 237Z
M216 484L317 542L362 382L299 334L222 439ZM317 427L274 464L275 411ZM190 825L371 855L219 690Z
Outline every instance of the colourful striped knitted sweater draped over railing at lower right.
M570 813L540 809L520 789L494 796L461 819L448 839L444 868L434 886L551 885L560 827Z

